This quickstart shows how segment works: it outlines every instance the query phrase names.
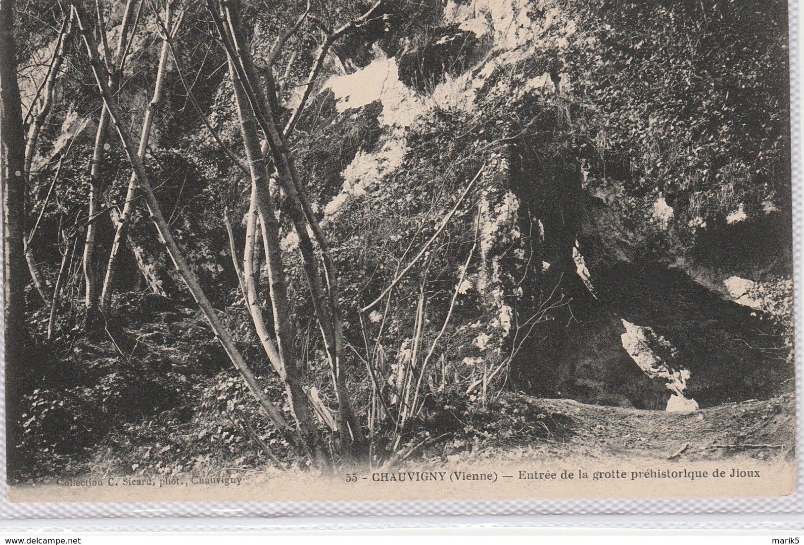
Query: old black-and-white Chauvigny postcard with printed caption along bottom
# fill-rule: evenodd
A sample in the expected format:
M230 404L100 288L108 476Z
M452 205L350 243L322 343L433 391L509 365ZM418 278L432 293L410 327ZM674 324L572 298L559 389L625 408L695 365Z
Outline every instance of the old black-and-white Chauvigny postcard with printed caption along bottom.
M2 0L10 502L795 491L785 0Z

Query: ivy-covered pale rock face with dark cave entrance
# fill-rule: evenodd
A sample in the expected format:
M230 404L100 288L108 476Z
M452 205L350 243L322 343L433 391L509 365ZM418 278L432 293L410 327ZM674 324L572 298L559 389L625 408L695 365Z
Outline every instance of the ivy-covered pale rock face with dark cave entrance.
M458 207L441 245L389 301L398 305L390 329L404 350L443 324L445 360L458 362L443 372L456 382L505 368L509 386L529 394L668 411L792 388L785 133L768 159L777 166L773 182L761 169L725 181L743 176L743 163L725 152L704 157L691 136L698 129L682 127L682 115L706 125L720 114L694 88L665 86L685 68L662 64L669 53L661 39L636 43L612 30L633 19L687 32L653 21L680 12L587 4L450 0L441 23L395 46L374 44L373 60L324 84L317 100L334 107L318 111L333 112L331 125L345 129L369 109L379 125L335 185L320 187L334 195L320 203L325 220L350 233L342 247L366 248L344 259L372 285L387 285L409 248ZM740 10L729 17L758 14ZM772 39L777 16L769 11L764 38L737 41L749 50ZM702 77L732 77L698 60ZM658 81L660 92L635 106L638 94L611 94L612 77L634 88ZM774 84L754 90L777 97ZM694 111L660 111L662 100L689 101ZM651 151L665 145L690 146L685 160L697 170L668 166L671 158ZM476 190L459 201L475 173ZM366 218L374 232L348 227ZM428 298L425 285L438 294ZM359 297L371 300L367 292ZM376 311L371 322L383 316ZM410 330L417 312L425 326Z

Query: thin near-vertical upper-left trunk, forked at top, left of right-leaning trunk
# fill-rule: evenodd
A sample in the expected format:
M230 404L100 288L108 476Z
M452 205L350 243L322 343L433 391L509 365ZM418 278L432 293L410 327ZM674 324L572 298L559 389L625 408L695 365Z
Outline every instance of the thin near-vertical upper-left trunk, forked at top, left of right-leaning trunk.
M109 88L111 92L117 92L120 84L121 68L123 59L121 58L126 50L129 39L129 21L133 15L134 6L137 0L127 0L125 4L125 12L123 14L123 21L121 23L120 36L117 39L117 51L114 58L109 63L109 68L113 71L109 74ZM100 14L98 14L100 18ZM102 18L101 18L102 19ZM105 35L105 29L99 29L101 35ZM105 55L109 55L108 50L104 50ZM98 286L98 271L97 271L97 230L100 214L99 210L102 207L100 193L103 190L103 177L101 170L103 169L103 153L105 150L106 141L109 137L109 123L110 123L109 106L105 105L100 112L100 120L98 121L97 132L95 133L95 149L92 151L92 167L89 172L89 222L87 224L87 238L84 243L84 285L86 288L84 295L84 305L86 306L86 327L90 329L98 318L98 310L100 309L100 289Z

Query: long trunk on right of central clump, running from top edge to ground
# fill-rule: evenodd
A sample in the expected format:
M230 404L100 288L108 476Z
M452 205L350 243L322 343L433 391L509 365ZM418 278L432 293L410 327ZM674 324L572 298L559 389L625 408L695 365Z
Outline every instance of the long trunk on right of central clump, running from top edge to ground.
M364 451L366 450L367 441L363 435L363 429L355 412L355 408L351 404L346 375L344 375L343 372L343 363L345 362L343 358L343 327L338 313L338 288L337 277L334 276L334 264L328 255L326 240L322 236L318 222L312 214L308 215L305 213L305 204L309 207L309 203L306 203L306 199L300 197L301 185L298 182L298 174L295 166L293 166L293 158L289 153L285 138L282 134L281 125L277 124L275 113L271 108L272 100L265 95L263 89L257 84L259 82L259 76L253 64L251 53L248 51L248 47L240 31L238 12L236 9L232 9L233 7L236 7L236 2L232 0L224 3L228 23L228 35L232 40L231 43L227 43L227 40L224 39L224 44L234 49L234 51L228 51L229 55L232 59L236 59L234 68L236 68L238 72L237 76L244 85L244 90L248 96L252 111L256 114L257 121L260 122L260 128L263 129L265 133L274 163L277 167L279 182L287 197L288 207L286 211L297 232L302 264L304 265L310 295L318 317L318 324L322 330L322 337L332 368L334 389L338 398L338 431L344 449L343 454L347 458L351 458L353 454L360 457L365 454ZM223 35L227 34L224 28L219 28L219 31L221 31ZM271 86L272 81L269 80L268 83L269 93L275 98L276 90ZM318 264L313 244L307 232L308 225L310 225L314 234L318 233L318 235L320 235L320 237L317 237L317 241L319 248L322 250L324 259L329 299L325 296L322 287L321 275L318 272ZM354 453L352 452L353 446L356 451Z

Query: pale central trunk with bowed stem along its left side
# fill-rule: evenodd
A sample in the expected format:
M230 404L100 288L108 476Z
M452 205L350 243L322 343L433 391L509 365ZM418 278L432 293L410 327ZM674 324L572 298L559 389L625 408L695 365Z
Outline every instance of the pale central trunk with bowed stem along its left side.
M232 77L232 86L235 89L237 111L240 115L240 132L243 135L243 142L246 152L246 160L252 177L252 199L253 209L256 209L260 216L262 226L262 240L265 245L265 256L268 262L269 288L271 293L271 304L273 308L273 324L277 342L269 337L268 330L265 328L265 320L262 316L258 294L256 293L256 282L252 268L253 244L256 240L256 218L252 216L248 219L247 240L251 240L251 248L246 248L244 256L244 270L246 281L246 293L248 295L248 310L252 314L252 320L256 327L260 341L268 354L273 367L279 372L288 391L288 400L296 425L305 436L305 440L311 449L320 451L319 456L323 455L321 442L318 439L318 430L315 428L310 407L307 405L307 395L301 384L301 370L298 366L296 350L293 347L296 338L293 322L290 320L289 300L287 286L285 285L285 271L282 264L281 248L279 244L279 223L277 222L276 211L273 207L273 199L269 190L268 170L265 166L265 158L260 150L260 140L257 137L256 121L248 98L245 96L240 80L236 76L232 59L229 60L229 72Z

